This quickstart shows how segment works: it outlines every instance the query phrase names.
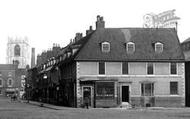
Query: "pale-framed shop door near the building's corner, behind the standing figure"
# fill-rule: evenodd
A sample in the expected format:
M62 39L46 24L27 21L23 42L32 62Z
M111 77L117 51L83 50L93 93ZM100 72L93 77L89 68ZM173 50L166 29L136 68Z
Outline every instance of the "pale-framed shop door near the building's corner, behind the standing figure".
M85 102L86 98L89 99L89 106L92 106L92 87L91 86L83 87L83 102Z

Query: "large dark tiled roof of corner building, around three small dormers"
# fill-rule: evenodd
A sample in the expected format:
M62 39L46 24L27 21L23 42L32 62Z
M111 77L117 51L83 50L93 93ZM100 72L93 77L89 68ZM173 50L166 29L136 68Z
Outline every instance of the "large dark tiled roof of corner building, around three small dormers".
M101 51L102 42L110 43L110 52ZM128 54L125 43L135 43L135 52ZM163 44L156 53L154 43ZM96 30L83 44L75 60L83 61L183 61L184 55L174 29L169 28L105 28Z

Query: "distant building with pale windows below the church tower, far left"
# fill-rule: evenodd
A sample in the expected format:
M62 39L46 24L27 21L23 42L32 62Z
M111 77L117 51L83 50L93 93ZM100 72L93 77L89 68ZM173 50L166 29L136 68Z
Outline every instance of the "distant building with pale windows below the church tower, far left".
M0 95L9 96L24 91L26 70L17 64L0 64Z

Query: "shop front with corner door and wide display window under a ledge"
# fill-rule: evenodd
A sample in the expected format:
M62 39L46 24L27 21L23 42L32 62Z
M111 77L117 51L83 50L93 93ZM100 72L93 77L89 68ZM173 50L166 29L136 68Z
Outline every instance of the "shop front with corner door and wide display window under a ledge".
M90 107L116 107L117 82L116 81L83 81L81 82L82 104L86 99Z

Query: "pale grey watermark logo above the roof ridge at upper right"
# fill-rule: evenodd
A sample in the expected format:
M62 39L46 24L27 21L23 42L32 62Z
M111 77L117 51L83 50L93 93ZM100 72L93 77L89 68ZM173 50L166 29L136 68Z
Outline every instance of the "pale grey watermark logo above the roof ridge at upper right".
M144 19L144 28L177 28L177 21L180 19L175 16L175 10L169 10L160 14L146 14Z

